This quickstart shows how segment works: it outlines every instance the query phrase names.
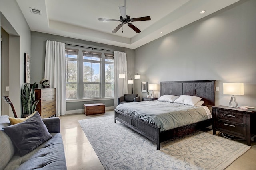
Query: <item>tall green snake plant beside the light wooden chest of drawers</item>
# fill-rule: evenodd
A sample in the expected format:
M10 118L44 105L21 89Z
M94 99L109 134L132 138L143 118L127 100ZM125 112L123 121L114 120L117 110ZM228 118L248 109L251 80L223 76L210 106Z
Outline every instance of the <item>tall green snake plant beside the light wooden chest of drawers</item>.
M28 117L36 110L36 105L40 99L36 101L35 87L36 82L33 84L31 89L28 87L27 83L24 84L21 95L21 102L24 110L22 117Z

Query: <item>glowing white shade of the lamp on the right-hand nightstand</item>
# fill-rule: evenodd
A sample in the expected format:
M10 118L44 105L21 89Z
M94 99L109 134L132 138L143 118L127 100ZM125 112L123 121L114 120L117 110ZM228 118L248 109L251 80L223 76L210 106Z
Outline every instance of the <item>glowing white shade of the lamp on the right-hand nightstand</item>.
M244 95L244 83L223 83L223 94Z

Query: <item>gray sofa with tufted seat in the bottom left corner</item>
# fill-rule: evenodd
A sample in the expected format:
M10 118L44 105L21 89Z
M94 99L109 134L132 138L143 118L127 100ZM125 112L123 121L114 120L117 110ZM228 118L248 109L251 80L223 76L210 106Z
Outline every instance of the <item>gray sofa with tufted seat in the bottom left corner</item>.
M66 159L60 119L58 117L42 119L49 133L48 141L20 157L17 148L2 127L10 126L8 116L0 116L0 170L66 170Z

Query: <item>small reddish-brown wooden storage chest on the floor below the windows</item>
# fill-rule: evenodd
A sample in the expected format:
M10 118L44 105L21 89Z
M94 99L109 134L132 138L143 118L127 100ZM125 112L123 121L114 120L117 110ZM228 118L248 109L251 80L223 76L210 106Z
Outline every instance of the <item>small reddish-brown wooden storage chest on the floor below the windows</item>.
M84 104L84 114L87 115L96 115L105 113L105 104L103 103L92 103Z

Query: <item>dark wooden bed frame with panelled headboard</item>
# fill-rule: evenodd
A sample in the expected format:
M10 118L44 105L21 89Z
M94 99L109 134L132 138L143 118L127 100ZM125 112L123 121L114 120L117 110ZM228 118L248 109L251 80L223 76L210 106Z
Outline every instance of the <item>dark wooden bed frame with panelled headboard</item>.
M160 96L165 94L176 96L180 96L182 94L198 96L202 98L204 105L211 109L211 106L215 106L215 81L216 80L160 82ZM212 119L208 119L160 132L160 127L158 126L152 125L136 117L132 117L116 109L114 110L115 123L116 120L120 121L134 131L155 142L157 150L160 150L160 143L163 141L172 139L173 137L190 134L196 130L212 125Z

